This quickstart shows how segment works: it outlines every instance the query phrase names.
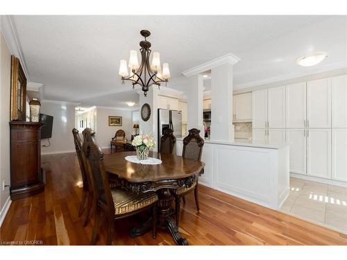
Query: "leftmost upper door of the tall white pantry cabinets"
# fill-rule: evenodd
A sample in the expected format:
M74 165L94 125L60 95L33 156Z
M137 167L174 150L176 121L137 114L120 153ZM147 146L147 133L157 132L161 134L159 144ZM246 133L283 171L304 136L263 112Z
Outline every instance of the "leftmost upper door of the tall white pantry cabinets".
M253 128L266 128L267 89L252 92Z

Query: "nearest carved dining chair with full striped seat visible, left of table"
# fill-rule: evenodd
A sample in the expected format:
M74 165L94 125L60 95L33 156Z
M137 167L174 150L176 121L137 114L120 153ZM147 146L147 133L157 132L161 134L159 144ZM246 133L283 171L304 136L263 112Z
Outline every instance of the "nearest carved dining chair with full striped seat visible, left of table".
M96 236L101 225L101 214L107 221L107 244L112 243L115 220L132 216L152 207L153 209L153 239L156 236L156 211L158 196L154 192L130 193L124 189L110 189L108 175L103 164L103 152L94 139L95 132L90 128L83 130L83 153L87 158L89 170L94 182L94 202L96 211L91 244L95 245Z

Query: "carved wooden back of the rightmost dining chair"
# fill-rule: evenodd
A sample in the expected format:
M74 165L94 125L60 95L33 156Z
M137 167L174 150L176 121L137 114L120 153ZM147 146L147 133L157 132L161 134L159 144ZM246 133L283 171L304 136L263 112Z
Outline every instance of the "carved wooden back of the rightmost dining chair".
M189 134L183 139L182 157L201 161L203 153L203 144L205 141L200 137L200 130L192 128L188 130Z

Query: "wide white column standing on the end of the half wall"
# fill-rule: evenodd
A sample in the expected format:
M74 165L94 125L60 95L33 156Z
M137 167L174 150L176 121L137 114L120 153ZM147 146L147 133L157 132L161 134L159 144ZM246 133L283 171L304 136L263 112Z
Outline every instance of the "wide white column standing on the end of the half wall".
M234 141L232 126L232 64L229 63L211 69L210 138L214 141Z

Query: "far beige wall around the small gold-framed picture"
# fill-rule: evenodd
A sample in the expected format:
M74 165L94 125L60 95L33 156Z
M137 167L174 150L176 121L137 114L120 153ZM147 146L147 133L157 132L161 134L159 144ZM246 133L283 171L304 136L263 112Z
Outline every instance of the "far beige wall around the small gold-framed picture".
M121 116L121 126L108 126L108 116ZM115 136L117 130L126 132L126 138L130 139L133 132L133 119L130 110L117 110L110 108L96 107L96 141L103 148L110 147L110 141Z

